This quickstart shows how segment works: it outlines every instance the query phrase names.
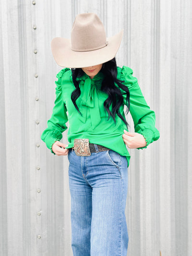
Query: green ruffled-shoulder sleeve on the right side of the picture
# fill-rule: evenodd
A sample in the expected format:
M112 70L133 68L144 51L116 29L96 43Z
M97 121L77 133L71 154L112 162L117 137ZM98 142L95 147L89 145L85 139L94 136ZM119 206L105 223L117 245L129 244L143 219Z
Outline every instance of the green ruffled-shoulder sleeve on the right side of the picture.
M147 105L137 78L132 75L131 68L123 66L121 69L120 80L128 86L130 91L130 113L134 122L135 133L142 134L146 140L146 146L138 149L146 148L150 143L159 138L159 131L155 127L155 112ZM124 103L126 104L125 95Z

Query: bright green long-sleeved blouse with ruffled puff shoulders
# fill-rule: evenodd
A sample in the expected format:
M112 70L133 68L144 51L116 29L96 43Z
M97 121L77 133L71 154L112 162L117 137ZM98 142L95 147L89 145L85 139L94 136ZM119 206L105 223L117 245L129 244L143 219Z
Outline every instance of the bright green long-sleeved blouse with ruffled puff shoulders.
M147 105L137 78L132 75L132 69L123 66L122 68L118 67L117 71L117 78L124 81L123 84L130 91L130 113L135 133L144 136L147 143L145 147L147 147L159 138L159 132L155 127L155 112L150 110ZM108 119L108 113L104 109L104 101L108 98L108 95L101 91L104 74L100 71L93 79L90 79L84 73L77 78L81 95L76 100L76 104L81 114L75 109L71 99L75 89L71 69L62 69L57 74L57 78L55 106L52 116L48 120L48 127L41 135L41 139L51 152L54 153L52 145L62 138L62 133L67 129L66 123L68 122L69 145L67 148L73 147L74 139L88 138L90 143L106 146L121 156L125 156L129 166L130 154L122 138L123 130L126 130L127 127L117 115L116 123L111 117ZM124 105L126 105L126 95L123 95L123 98ZM120 107L120 113L125 118L124 105Z

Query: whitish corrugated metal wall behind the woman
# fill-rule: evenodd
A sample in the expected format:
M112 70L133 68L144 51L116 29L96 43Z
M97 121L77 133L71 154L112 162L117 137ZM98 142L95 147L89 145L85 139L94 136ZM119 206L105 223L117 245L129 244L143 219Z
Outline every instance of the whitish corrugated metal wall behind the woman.
M96 12L108 37L124 28L118 64L133 69L160 131L130 150L128 255L191 256L192 1L1 0L0 11L0 256L72 256L68 160L40 135L61 69L50 41L70 37L80 12Z

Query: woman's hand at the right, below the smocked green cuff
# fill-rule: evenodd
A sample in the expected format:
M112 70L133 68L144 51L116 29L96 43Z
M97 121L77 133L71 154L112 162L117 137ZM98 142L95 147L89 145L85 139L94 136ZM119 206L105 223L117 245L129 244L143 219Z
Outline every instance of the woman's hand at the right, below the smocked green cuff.
M142 134L138 133L130 133L124 130L124 134L122 135L124 143L129 148L139 148L146 146L145 138Z

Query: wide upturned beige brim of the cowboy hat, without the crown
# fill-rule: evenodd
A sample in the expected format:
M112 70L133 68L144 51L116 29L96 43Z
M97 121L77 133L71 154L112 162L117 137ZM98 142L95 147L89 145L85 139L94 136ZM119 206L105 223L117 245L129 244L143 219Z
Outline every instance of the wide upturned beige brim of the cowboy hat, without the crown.
M122 36L123 29L115 36L107 39L107 46L91 51L73 51L70 39L55 37L51 41L51 50L55 61L61 67L90 67L112 60L120 47Z

